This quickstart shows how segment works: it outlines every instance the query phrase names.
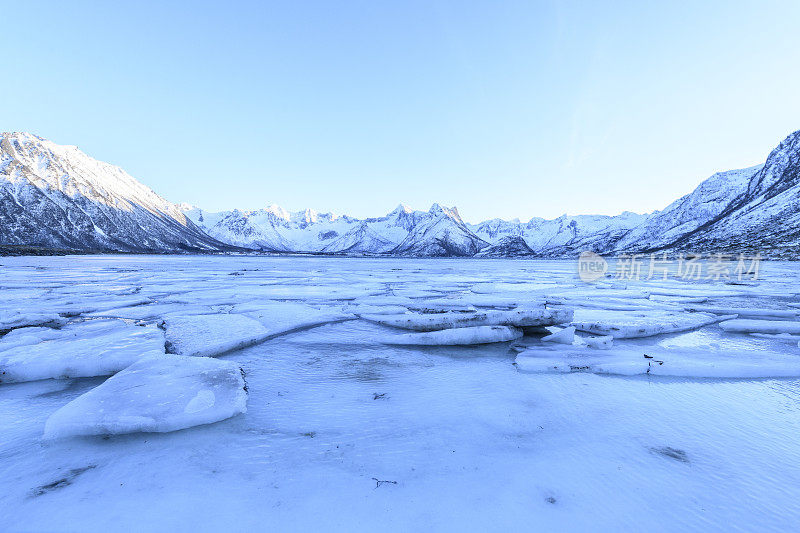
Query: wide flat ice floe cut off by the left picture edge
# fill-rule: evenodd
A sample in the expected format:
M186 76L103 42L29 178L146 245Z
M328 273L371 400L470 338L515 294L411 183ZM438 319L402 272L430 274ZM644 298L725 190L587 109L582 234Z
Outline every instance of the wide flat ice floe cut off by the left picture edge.
M60 330L23 328L0 339L0 382L107 376L164 353L156 327L91 320Z

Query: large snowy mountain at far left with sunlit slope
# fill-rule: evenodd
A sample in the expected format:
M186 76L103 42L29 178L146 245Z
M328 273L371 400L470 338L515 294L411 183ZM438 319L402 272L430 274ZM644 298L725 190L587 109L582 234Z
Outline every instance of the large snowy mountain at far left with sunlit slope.
M0 245L139 252L227 248L119 167L28 133L0 137Z

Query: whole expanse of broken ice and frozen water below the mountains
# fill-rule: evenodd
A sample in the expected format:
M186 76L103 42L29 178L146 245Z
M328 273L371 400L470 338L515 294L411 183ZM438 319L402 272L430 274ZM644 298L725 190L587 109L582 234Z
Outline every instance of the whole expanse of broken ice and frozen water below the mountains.
M2 257L0 291L31 317L0 336L2 531L800 523L798 264L586 284L572 261ZM512 325L447 317L515 307L574 318L452 345ZM376 322L398 315L439 329ZM448 344L385 343L420 335Z

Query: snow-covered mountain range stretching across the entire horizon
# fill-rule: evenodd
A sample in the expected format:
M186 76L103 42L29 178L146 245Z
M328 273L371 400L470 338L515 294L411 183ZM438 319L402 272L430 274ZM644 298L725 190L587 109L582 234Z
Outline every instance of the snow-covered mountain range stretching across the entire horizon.
M172 204L119 167L28 133L0 139L0 247L72 251L574 257L755 253L800 258L800 131L762 165L720 172L663 211L468 224L400 205L357 219L278 206L212 213ZM0 248L1 249L1 248Z

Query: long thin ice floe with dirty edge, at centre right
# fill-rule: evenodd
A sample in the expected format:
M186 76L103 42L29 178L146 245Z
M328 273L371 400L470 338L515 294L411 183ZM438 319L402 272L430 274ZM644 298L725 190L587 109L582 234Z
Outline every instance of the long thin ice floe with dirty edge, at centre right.
M428 315L364 315L371 322L414 331L470 326L554 326L572 320L572 309L519 307L511 311L478 311L475 313L435 313Z

